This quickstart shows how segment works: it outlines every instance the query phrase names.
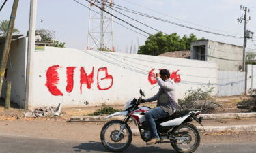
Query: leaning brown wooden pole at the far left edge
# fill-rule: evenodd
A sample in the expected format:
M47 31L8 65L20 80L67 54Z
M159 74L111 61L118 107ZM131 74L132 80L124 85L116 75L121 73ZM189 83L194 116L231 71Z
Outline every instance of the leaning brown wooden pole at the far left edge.
M14 22L15 22L16 12L17 12L17 8L18 8L18 1L19 0L14 0L14 3L12 5L12 13L11 13L11 17L9 20L7 35L5 37L5 44L3 46L3 54L1 56L0 97L1 97L1 91L2 91L2 86L3 86L3 77L5 75L6 63L8 61L8 55L9 55L10 46L11 46L11 42L12 42L12 31L14 29Z

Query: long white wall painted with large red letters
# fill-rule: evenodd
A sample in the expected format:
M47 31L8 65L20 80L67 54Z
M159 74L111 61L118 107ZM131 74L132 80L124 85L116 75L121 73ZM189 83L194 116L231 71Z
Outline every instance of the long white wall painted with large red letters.
M192 61L189 59L169 58L161 56L146 56L137 54L121 54L112 52L95 52L89 50L76 50L71 48L53 48L46 47L44 51L35 51L33 55L33 87L31 92L31 105L42 107L44 105L57 106L63 103L65 107L89 105L124 104L128 99L139 97L139 89L146 92L146 97L151 97L158 91L156 84L150 84L148 74L152 69L170 69L180 74L181 82L177 84L180 97L191 88L201 88L207 84L214 84L214 92L217 92L217 65L207 61ZM57 73L50 71L49 67L59 65ZM76 67L74 69L74 88L72 92L67 92L67 67ZM85 84L81 86L81 67L84 67L89 75L94 67L94 82L91 89ZM98 69L107 67L109 78L101 80L106 75L104 71ZM53 95L46 86L46 73L49 78L59 78L55 80L56 87L63 95ZM159 71L155 70L158 73ZM57 77L55 77L57 75ZM111 76L110 76L111 75ZM98 76L98 80L97 80ZM113 85L108 90L99 90ZM48 81L48 84L51 84ZM54 84L53 84L54 85ZM156 86L156 87L154 87ZM153 88L154 87L154 88ZM53 89L51 90L53 92Z

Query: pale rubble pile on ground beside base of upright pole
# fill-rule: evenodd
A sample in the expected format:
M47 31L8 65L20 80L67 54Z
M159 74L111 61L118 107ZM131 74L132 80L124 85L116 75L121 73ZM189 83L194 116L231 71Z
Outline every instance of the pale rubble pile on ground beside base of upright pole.
M34 111L28 111L25 113L25 117L35 118L35 117L53 117L59 116L61 114L61 104L57 108L51 107L43 107L35 109Z

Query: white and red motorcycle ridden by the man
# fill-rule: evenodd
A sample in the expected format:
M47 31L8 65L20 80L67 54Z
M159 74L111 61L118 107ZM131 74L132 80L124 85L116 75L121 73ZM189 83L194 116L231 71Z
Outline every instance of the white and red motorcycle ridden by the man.
M151 108L147 106L139 107L145 92L140 90L139 99L130 99L124 105L124 111L115 112L106 118L113 116L126 116L124 120L111 120L107 122L100 132L100 139L103 146L111 152L122 152L130 146L132 142L132 131L129 120L133 120L138 127L141 139L147 142L152 138L150 126L145 119L145 113ZM155 120L160 142L171 143L177 152L195 152L200 144L200 134L196 126L189 122L196 120L201 124L202 117L197 118L201 113L199 110L176 111L171 116ZM203 126L203 124L201 124Z

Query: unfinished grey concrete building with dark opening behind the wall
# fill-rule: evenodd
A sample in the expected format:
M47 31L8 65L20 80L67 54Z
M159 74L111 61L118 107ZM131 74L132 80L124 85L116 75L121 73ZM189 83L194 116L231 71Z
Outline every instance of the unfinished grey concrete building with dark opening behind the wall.
M190 59L214 61L220 71L242 69L243 47L211 40L191 42Z

